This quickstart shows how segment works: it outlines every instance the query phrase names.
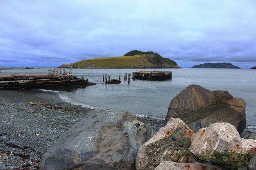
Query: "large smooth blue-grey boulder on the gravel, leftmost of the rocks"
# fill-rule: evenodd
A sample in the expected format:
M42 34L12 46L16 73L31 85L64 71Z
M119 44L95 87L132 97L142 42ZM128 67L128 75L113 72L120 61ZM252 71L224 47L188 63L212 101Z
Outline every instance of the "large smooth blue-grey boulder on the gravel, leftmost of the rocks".
M151 127L129 112L94 110L42 156L41 169L135 169Z

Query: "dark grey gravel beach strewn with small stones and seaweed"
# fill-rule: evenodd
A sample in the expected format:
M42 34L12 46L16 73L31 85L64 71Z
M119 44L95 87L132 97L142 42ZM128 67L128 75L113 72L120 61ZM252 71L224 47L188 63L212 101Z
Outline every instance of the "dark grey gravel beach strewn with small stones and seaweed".
M56 94L0 91L0 169L39 169L41 155L92 109L63 102ZM138 117L156 132L164 121Z

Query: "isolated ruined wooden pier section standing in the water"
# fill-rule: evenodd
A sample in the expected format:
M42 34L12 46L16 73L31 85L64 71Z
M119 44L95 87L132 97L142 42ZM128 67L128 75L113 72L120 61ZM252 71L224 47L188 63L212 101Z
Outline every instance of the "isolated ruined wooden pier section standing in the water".
M133 72L133 80L155 80L163 81L172 79L172 71L137 71Z

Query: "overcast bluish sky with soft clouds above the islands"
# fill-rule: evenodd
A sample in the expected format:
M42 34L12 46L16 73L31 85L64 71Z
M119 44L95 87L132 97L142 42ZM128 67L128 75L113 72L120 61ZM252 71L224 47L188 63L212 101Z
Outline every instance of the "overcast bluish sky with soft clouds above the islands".
M0 0L0 66L154 51L181 67L256 66L255 0Z

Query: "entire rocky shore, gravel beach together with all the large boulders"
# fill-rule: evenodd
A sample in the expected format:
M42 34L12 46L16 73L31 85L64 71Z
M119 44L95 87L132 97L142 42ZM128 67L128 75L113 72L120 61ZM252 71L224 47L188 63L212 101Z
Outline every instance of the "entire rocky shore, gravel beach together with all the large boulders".
M239 169L249 162L253 169L256 162L245 101L198 85L170 102L165 120L76 106L40 90L0 91L0 116L0 169Z

